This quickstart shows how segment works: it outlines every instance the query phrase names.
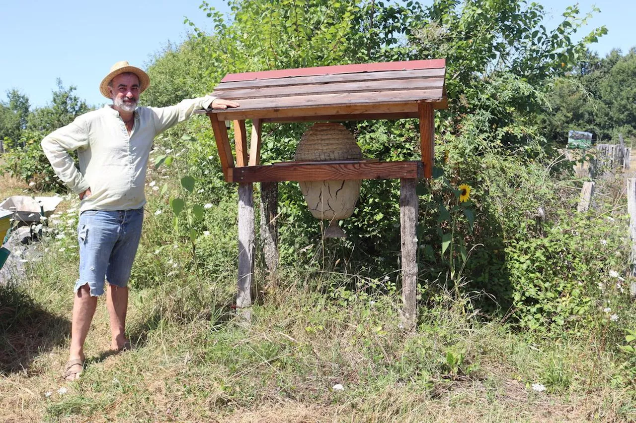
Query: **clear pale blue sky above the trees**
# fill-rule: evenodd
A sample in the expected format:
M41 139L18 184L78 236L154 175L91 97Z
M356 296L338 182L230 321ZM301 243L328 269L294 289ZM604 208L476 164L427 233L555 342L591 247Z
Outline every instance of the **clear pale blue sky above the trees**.
M108 102L99 94L99 83L114 62L128 60L145 68L152 55L170 41L179 43L188 32L184 17L208 29L209 19L199 10L200 0L31 0L0 4L0 98L17 88L32 106L46 105L52 98L57 77L65 86L73 84L76 94L88 104ZM209 4L226 12L225 1ZM431 3L429 0L423 4ZM574 2L539 1L555 25L565 8ZM588 26L607 26L609 34L592 50L605 55L612 48L628 51L636 46L636 25L632 1L579 1L581 11L597 4L601 13ZM630 17L632 20L630 20Z

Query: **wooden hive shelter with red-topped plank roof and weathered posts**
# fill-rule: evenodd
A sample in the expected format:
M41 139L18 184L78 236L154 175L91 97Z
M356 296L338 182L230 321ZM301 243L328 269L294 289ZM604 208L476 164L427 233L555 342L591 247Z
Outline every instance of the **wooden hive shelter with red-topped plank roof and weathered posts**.
M418 178L431 178L434 158L434 109L447 106L444 84L446 62L413 60L377 64L338 65L303 69L228 74L212 95L237 100L235 109L199 111L212 123L214 138L227 182L239 183L239 293L237 307L251 305L254 269L254 205L252 183L261 182L265 224L261 236L268 267L277 265L276 182L399 178L401 180L401 247L404 325L415 324L417 288ZM420 121L422 159L381 162L348 160L260 164L261 125L268 122L352 121L417 118ZM251 119L248 145L245 120ZM233 121L236 161L226 124ZM272 210L273 208L273 210ZM249 311L247 312L249 316Z

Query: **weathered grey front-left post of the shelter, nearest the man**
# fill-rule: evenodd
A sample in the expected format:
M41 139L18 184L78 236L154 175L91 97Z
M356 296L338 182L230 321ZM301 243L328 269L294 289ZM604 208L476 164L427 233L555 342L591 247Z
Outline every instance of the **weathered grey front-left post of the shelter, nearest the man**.
M239 184L239 283L237 311L251 321L252 279L254 276L254 192L251 182Z

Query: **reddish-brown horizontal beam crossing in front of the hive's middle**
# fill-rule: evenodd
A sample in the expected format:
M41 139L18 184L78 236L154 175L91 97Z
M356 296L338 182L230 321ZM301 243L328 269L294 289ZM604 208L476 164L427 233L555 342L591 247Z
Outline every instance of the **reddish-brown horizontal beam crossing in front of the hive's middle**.
M289 166L247 166L232 168L227 182L282 182L289 180L348 180L422 178L420 161L364 162L342 164L290 164Z

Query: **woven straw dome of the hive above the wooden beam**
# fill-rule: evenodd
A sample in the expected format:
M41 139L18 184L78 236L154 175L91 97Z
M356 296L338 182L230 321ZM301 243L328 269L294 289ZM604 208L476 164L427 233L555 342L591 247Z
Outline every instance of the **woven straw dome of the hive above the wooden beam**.
M355 160L362 158L356 138L342 123L316 123L300 138L298 161Z

